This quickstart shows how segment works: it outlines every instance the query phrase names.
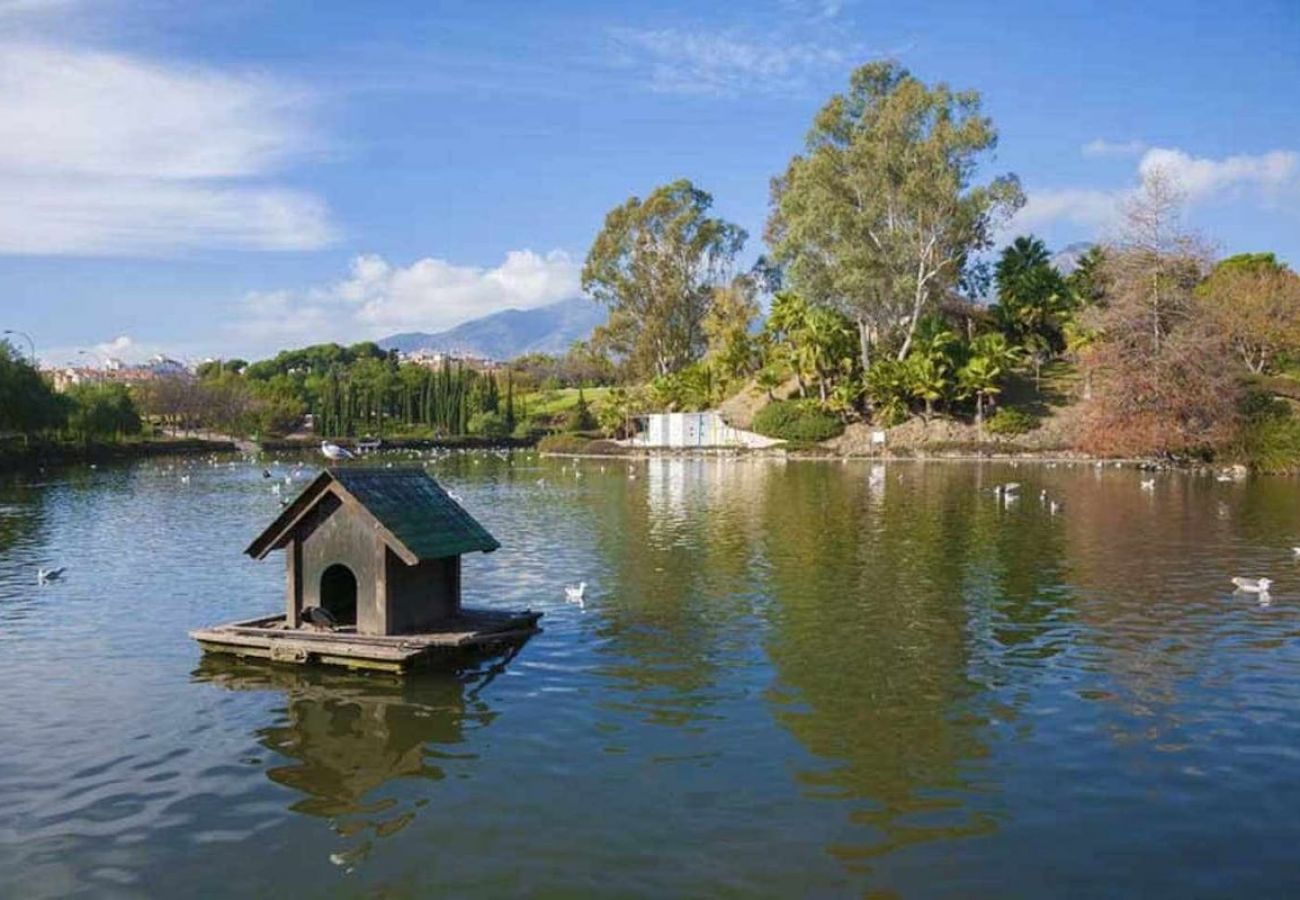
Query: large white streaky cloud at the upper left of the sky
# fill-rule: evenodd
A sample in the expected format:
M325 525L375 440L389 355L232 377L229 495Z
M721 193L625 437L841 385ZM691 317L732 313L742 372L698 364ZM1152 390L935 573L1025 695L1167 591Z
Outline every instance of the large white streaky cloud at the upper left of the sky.
M0 254L308 250L320 199L265 179L311 151L308 98L257 75L0 44Z

